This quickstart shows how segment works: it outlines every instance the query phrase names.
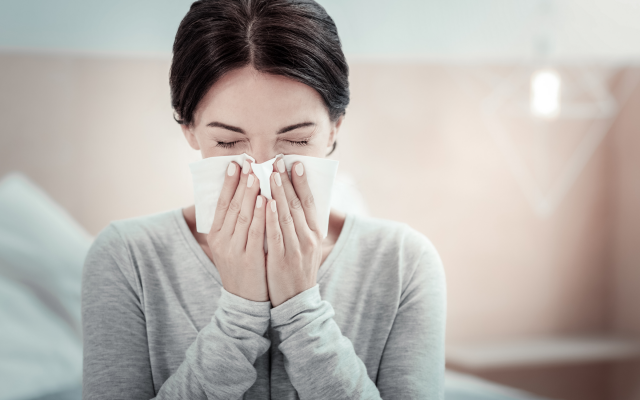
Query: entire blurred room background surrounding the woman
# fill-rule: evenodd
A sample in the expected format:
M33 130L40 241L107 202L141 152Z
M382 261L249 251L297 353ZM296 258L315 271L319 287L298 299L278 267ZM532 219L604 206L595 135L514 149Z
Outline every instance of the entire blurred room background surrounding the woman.
M320 0L350 65L335 206L424 233L448 399L640 399L640 1ZM193 203L188 0L0 1L0 400L78 399L109 221Z

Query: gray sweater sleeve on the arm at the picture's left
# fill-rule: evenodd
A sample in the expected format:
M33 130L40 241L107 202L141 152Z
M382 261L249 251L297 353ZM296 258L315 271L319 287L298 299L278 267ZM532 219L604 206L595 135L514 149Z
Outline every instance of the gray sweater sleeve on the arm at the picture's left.
M101 232L82 275L83 399L238 399L254 384L256 359L270 347L264 337L271 303L222 289L218 309L188 347L185 359L154 388L144 297L117 228Z

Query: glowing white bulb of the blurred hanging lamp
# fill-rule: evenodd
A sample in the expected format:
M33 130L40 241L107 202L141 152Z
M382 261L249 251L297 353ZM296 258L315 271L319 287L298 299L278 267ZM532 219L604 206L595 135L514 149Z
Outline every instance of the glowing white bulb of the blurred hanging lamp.
M560 75L540 70L531 76L531 113L540 118L555 118L560 113Z

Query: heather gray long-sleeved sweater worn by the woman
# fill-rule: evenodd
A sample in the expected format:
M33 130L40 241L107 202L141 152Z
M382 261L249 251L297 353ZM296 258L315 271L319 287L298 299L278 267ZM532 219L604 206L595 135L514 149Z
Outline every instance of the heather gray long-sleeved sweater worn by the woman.
M83 399L442 399L445 298L403 223L348 214L272 308L224 290L181 209L114 221L83 270Z

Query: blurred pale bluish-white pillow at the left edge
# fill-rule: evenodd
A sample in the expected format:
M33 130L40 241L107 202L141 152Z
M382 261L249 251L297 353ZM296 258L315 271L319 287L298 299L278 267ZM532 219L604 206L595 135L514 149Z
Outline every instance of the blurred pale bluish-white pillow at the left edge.
M80 286L92 240L26 176L0 180L0 400L81 382Z

